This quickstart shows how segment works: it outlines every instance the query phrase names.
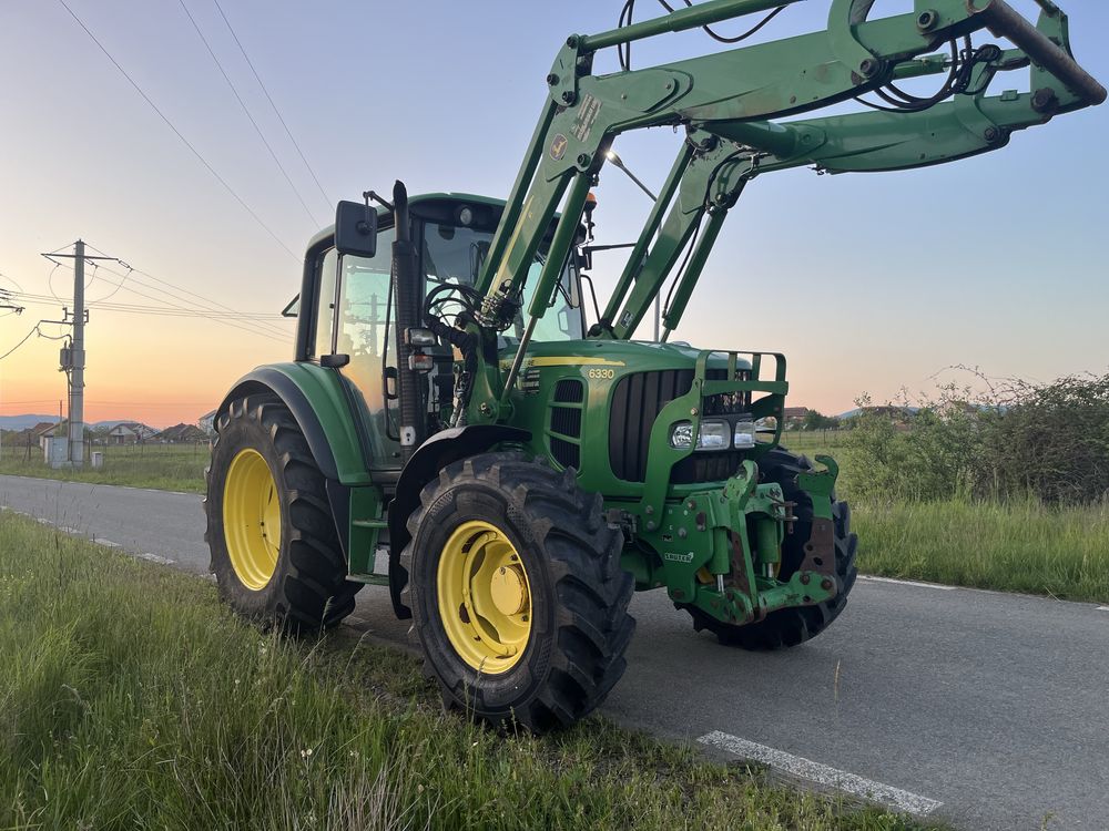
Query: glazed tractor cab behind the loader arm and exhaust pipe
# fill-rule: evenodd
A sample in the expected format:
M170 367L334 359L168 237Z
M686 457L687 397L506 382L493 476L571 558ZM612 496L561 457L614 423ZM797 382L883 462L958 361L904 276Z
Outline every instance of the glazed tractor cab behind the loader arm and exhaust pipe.
M408 203L409 234L416 254L416 280L411 290L420 318L431 316L442 329L456 326L468 305L492 237L503 202L465 194L414 196ZM297 361L337 369L348 382L349 404L364 424L363 439L372 469L399 469L403 453L399 434L399 347L397 296L391 279L396 242L395 212L376 215L374 252L340 253L335 226L325 228L308 244L298 300L286 314L298 317ZM552 226L553 229L553 226ZM532 257L525 288L529 302L546 263L550 235ZM573 258L571 258L572 260ZM537 342L580 340L584 337L579 275L576 264L563 267L559 290L548 315L537 327ZM522 312L500 334L498 346L511 350L523 334ZM399 337L399 341L398 341ZM457 347L446 339L421 345L421 409L427 433L450 425L455 392L462 369Z

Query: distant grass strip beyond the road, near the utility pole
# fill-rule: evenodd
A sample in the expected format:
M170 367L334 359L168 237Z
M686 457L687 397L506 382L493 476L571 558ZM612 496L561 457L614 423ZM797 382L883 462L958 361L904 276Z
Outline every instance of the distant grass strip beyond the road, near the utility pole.
M63 479L71 482L154 488L161 491L204 492L206 444L146 444L142 447L95 447L104 454L104 466L93 469L88 461L79 469L53 469L42 461L42 451L32 447L4 447L0 473L17 476Z

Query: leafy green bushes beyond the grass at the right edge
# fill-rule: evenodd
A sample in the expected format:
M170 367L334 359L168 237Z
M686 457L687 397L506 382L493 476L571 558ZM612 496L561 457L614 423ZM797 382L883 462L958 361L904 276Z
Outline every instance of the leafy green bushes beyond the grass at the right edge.
M884 500L1029 496L1081 505L1109 496L1109 375L1051 383L948 383L862 412L846 434L852 494Z

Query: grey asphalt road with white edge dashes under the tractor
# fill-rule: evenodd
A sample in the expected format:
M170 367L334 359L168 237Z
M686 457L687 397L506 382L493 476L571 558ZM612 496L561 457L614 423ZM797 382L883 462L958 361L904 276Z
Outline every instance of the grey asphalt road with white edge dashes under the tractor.
M0 504L207 571L196 495L0 476ZM1109 609L861 579L824 635L769 655L694 635L661 592L631 611L603 707L623 724L963 829L1109 829ZM408 644L384 589L352 620Z

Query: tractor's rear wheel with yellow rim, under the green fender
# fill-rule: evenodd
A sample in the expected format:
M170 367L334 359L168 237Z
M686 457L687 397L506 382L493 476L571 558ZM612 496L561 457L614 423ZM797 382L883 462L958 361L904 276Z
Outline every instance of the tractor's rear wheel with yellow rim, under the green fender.
M204 536L220 596L296 633L335 626L362 584L346 579L326 480L296 420L279 398L258 393L233 401L216 430Z

